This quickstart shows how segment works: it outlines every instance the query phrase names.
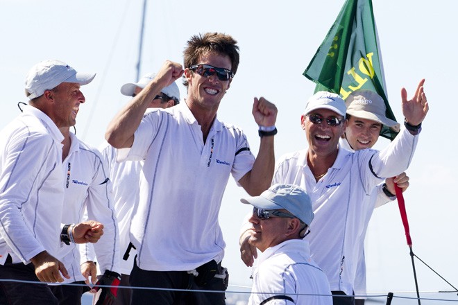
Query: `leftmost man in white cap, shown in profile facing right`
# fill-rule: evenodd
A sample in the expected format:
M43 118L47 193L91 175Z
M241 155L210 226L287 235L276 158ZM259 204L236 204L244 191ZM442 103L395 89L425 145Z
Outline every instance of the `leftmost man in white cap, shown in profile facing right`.
M95 73L45 60L26 76L29 105L0 132L0 279L62 282L65 243L95 243L103 225L60 223L64 198L59 128L74 125ZM49 286L0 281L1 304L58 304Z

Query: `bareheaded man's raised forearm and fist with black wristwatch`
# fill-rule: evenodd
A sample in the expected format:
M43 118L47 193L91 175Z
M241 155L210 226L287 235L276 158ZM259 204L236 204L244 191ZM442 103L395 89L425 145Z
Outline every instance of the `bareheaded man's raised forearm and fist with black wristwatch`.
M260 151L257 153L253 168L239 180L239 184L252 196L260 195L271 186L275 168L275 155L273 152L273 134L275 132L269 129L275 127L277 112L277 107L273 103L270 103L265 98L260 98L259 100L255 98L253 117L257 125L260 125L260 130L264 129L266 131L261 136Z

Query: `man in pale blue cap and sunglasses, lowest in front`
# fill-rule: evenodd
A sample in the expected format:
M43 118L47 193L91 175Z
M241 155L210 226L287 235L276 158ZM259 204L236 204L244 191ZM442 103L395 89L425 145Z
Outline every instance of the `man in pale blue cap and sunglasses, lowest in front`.
M303 240L314 218L309 195L298 186L274 184L240 201L253 205L250 243L262 252L248 304L332 304L328 279Z

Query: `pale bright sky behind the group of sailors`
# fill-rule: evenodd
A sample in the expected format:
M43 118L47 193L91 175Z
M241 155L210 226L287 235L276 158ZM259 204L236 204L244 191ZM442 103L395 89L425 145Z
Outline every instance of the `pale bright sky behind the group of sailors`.
M67 62L77 71L95 71L82 91L86 103L77 119L77 136L99 146L108 121L128 98L119 93L135 78L141 0L36 1L0 0L0 128L26 102L24 78L45 59ZM300 114L314 84L302 73L328 33L343 0L320 1L149 1L140 74L157 71L164 60L183 62L185 42L197 33L219 31L239 42L241 61L219 118L239 125L257 153L259 137L251 115L253 96L278 107L275 155L305 148ZM398 121L400 88L412 96L421 78L430 113L408 174L405 193L414 253L455 286L458 284L457 155L455 96L458 64L456 16L452 0L373 0L391 108ZM180 86L185 96L183 86ZM388 141L380 139L378 148ZM453 157L455 156L455 157ZM173 183L171 184L173 190ZM171 190L171 191L172 191ZM196 190L199 191L199 190ZM223 198L220 220L228 244L223 265L230 284L250 286L251 270L239 259L239 225L249 210L246 196L232 178ZM177 224L179 225L179 224ZM368 232L369 291L414 290L409 248L396 202L375 211ZM416 260L421 290L449 286ZM235 290L235 288L230 288Z

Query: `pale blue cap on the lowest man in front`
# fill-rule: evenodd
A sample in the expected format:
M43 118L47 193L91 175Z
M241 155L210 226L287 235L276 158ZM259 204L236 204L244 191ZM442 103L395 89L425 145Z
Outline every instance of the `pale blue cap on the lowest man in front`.
M261 195L240 201L258 209L286 209L308 226L314 218L309 195L293 184L274 184Z

